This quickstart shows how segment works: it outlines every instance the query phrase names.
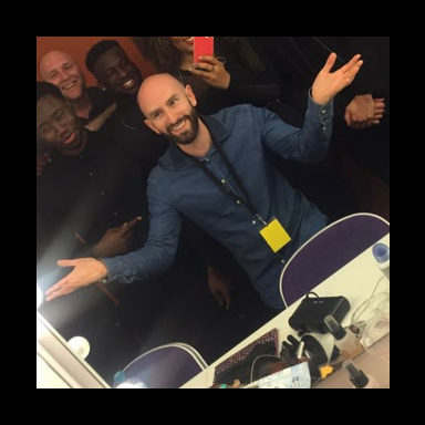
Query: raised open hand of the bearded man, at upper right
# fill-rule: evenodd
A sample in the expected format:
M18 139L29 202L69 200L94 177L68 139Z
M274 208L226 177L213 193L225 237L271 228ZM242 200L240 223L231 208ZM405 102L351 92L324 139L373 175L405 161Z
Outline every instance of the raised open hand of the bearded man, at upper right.
M363 61L360 59L361 55L356 54L346 65L332 72L336 58L336 53L331 53L326 64L314 80L312 97L320 105L326 105L338 93L349 86L363 65Z

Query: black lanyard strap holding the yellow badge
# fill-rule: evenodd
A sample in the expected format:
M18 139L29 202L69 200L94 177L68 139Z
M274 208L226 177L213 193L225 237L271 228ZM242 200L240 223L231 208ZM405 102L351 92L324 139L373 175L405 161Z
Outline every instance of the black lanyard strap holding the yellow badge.
M229 169L229 173L232 177L232 179L236 182L238 185L240 191L243 194L243 197L240 197L239 195L235 194L235 191L231 189L230 185L228 182L225 179L218 178L205 164L205 162L199 160L195 156L188 155L185 152L182 151L183 154L185 154L193 163L195 163L217 186L219 189L221 189L224 193L229 195L237 205L245 205L249 211L252 214L253 217L256 217L259 221L261 221L265 226L268 226L266 220L256 211L253 208L251 201L249 200L248 194L243 188L242 182L238 176L238 173L236 173L235 167L230 163L229 158L225 154L225 151L222 149L222 146L216 142L212 141L212 144L215 148L217 149L218 154L221 156L222 160L225 162L227 168Z

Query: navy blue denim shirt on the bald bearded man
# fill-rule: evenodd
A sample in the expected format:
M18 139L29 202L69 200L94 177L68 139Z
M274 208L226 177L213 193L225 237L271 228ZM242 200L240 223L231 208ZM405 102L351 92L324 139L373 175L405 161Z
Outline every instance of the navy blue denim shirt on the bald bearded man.
M326 217L277 172L267 152L304 163L323 159L331 137L332 116L333 104L321 106L310 100L302 129L251 105L235 106L203 117L234 165L258 214L267 221L278 218L291 236L292 241L280 252L272 252L259 234L263 224L245 205L238 205L175 145L170 145L148 180L148 240L135 252L104 259L108 278L128 283L167 269L173 262L182 217L185 216L234 253L263 302L283 308L279 277L284 261L326 225ZM199 159L242 196L215 147Z

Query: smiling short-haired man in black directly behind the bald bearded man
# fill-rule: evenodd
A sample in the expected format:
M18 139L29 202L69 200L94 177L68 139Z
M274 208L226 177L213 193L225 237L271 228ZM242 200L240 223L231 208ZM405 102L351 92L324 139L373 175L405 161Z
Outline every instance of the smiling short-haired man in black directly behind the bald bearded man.
M85 59L86 68L96 77L100 87L116 102L116 111L105 123L103 131L125 151L141 158L146 177L168 147L168 141L144 124L137 104L137 93L143 82L142 73L115 40L102 40L94 44ZM196 247L199 259L208 273L208 287L220 305L230 307L230 282L222 269L222 247L208 238L199 228L186 221L184 238Z

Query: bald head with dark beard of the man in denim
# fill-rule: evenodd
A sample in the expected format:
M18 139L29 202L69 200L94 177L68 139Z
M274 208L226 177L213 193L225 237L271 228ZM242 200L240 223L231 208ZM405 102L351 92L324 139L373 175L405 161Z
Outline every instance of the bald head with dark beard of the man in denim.
M145 124L154 132L179 145L196 139L199 120L189 85L184 87L169 74L152 75L142 83L137 101L146 117Z

